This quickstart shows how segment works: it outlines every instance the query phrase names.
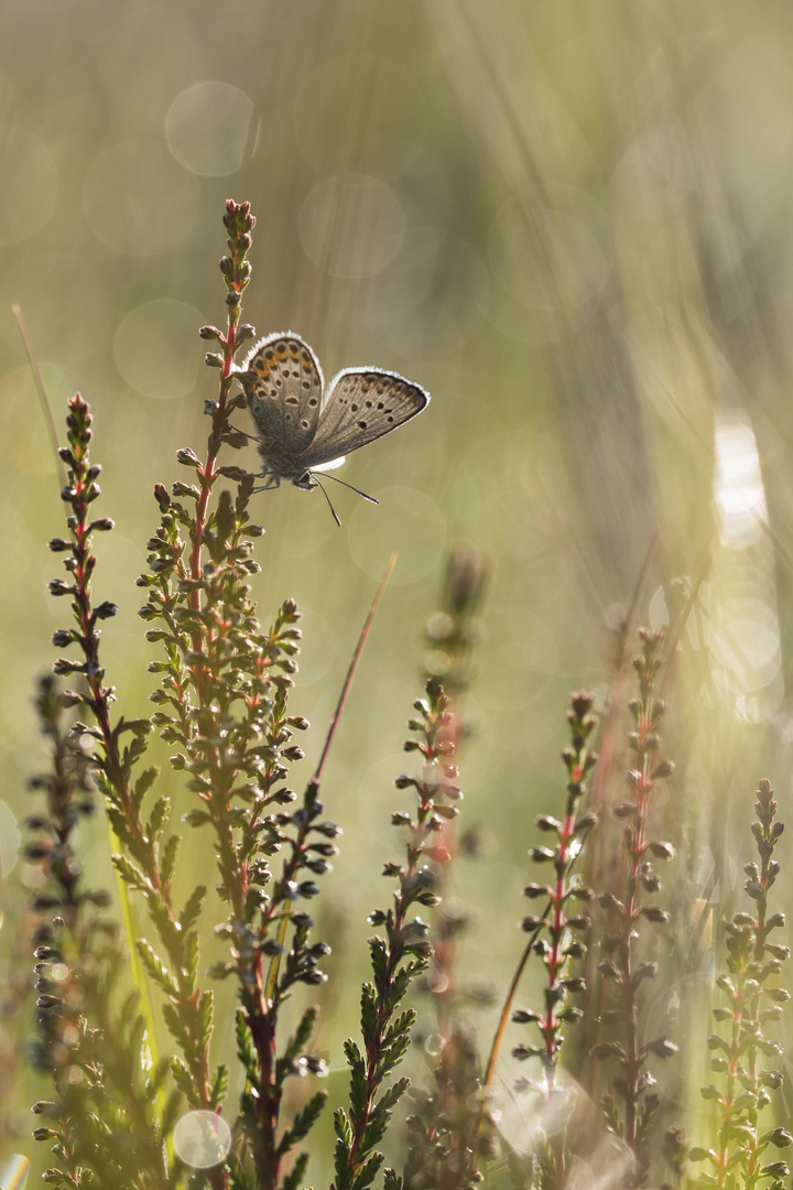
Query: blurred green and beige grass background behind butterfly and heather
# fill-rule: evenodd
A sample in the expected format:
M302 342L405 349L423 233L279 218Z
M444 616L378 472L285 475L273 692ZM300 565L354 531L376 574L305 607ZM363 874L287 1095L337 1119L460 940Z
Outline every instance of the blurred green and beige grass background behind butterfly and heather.
M183 478L176 450L201 455L207 433L215 374L196 332L222 324L227 196L258 219L244 309L259 334L298 332L327 377L373 364L433 395L345 468L379 508L339 489L338 530L320 496L259 497L262 619L287 596L304 612L292 712L315 724L309 762L399 552L325 782L346 832L325 909L331 1064L355 1027L366 913L389 895L391 782L455 540L493 566L464 772L465 820L487 839L460 878L476 906L465 977L486 963L503 984L515 963L533 816L561 787L567 691L605 696L654 539L641 620L661 626L672 581L704 577L667 746L675 879L704 902L738 887L759 776L782 818L791 788L789 7L5 0L2 24L7 889L25 779L43 763L29 691L67 610L46 593L59 483L11 307L58 427L75 389L94 408L101 513L117 521L96 544L95 591L121 609L105 663L122 712L146 713L155 652L134 578L152 487ZM189 846L197 869L206 840ZM112 884L101 822L86 848L90 878ZM29 1119L20 1104L24 1130Z

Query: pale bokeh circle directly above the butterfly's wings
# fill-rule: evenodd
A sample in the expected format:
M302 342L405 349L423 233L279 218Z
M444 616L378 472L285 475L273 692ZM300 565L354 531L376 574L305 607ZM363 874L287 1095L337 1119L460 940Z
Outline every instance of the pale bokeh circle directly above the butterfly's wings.
M339 174L314 187L300 213L303 251L334 277L373 277L402 246L404 214L390 186Z

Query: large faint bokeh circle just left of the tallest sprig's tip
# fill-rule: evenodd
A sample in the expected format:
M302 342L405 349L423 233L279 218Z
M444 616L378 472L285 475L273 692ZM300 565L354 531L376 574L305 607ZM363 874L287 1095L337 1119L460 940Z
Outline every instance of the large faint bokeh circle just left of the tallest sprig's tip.
M153 256L193 227L197 182L162 140L122 140L94 159L83 186L83 209L100 239L117 252Z

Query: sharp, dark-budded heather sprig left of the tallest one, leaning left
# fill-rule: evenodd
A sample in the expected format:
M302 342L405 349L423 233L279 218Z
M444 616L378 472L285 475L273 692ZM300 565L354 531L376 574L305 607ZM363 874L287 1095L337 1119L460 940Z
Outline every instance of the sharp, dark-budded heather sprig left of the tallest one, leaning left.
M63 697L68 706L88 709L94 720L93 724L76 722L73 729L76 735L95 741L93 775L103 794L108 820L121 848L113 856L113 862L125 884L143 895L166 960L145 939L136 941L136 950L149 978L165 997L165 1022L182 1051L182 1057L171 1061L177 1083L187 1090L189 1082L188 1102L191 1106L213 1110L225 1094L226 1071L221 1066L213 1073L210 1069L212 994L202 991L197 984L199 934L195 923L206 889L201 885L194 889L181 910L174 903L172 877L180 837L175 832L166 833L170 802L164 796L157 796L145 814L146 797L157 782L158 770L149 768L133 781L133 769L145 753L152 725L147 719L126 720L119 716L118 721L112 720L115 691L103 684L99 622L113 616L117 609L109 602L96 608L93 606L90 580L95 558L90 549L93 533L112 530L113 522L108 518L90 519L93 503L100 495L96 483L100 469L90 462L92 414L80 395L69 403L67 434L68 446L61 450L61 458L68 466L68 483L62 496L71 508L68 518L70 539L56 538L50 541L50 549L68 555L65 566L73 582L56 580L50 584L50 591L71 596L77 627L61 630L52 639L59 647L78 646L82 660L59 658L54 670L59 676L80 675L84 681L83 688L68 690ZM146 995L140 979L138 984ZM107 991L109 995L109 988ZM97 1012L105 1009L99 994L95 1007ZM146 1022L149 1033L152 1023L151 1020ZM86 1016L82 1027L90 1026L90 1017ZM99 1028L89 1035L101 1039L105 1033L106 1029ZM150 1038L149 1045L155 1046L153 1038ZM130 1053L134 1053L134 1046ZM180 1077L184 1071L189 1072L189 1079ZM124 1130L121 1125L119 1128ZM216 1186L224 1184L218 1171L210 1175L210 1180Z

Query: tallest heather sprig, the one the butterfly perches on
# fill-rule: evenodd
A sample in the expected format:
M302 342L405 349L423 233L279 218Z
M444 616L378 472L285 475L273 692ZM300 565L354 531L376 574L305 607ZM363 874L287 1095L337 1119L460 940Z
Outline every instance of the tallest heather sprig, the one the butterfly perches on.
M325 978L319 959L328 947L311 940L314 922L303 906L319 891L316 877L329 866L338 827L320 821L317 781L309 782L300 801L284 784L291 764L303 756L294 734L308 727L307 720L289 713L300 613L287 600L271 627L262 627L250 588L251 575L259 569L251 539L262 533L247 513L254 480L237 468L216 465L221 444L239 445L243 437L228 425L229 412L243 399L231 397L229 392L235 351L252 333L251 327L239 326L254 225L248 205L227 203L225 224L229 255L221 261L221 273L227 328L202 331L222 347L220 355L207 357L221 369L219 399L207 403L212 419L207 455L201 462L190 450L178 452L178 461L195 471L196 484L174 484L171 495L158 487L161 524L149 543L149 572L139 584L147 590L141 615L155 625L147 639L162 645L165 654L150 665L161 679L152 699L162 709L152 721L178 749L171 764L187 775L187 788L197 800L185 821L212 831L219 891L228 906L215 933L227 939L229 958L215 964L210 975L234 976L241 1003L238 1054L246 1084L231 1163L234 1185L243 1186L248 1177L257 1185L278 1182L283 1158L303 1138L325 1098L317 1092L291 1125L282 1127L285 1079L323 1072L323 1064L303 1052L314 1010L307 1010L281 1052L277 1023L281 1004L296 983ZM237 493L222 490L213 507L209 495L221 475L238 481ZM287 809L295 802L296 808ZM281 866L273 871L272 857L278 854ZM196 915L201 898L196 890ZM212 1000L204 995L201 1035L208 1045ZM184 1047L178 1015L169 1012L166 1023ZM175 1059L174 1072L195 1102L189 1063ZM222 1071L218 1085L225 1088ZM300 1179L304 1160L298 1159L284 1184Z

